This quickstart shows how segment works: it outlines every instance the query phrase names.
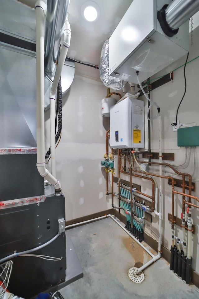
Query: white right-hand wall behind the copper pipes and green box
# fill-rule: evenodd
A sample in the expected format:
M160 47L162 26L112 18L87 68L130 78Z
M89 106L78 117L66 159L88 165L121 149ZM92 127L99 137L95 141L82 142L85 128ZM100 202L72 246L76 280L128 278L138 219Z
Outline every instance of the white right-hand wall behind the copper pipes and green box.
M194 59L199 55L199 28L193 31L193 46L190 43L190 52L188 61ZM186 61L186 56L179 59L177 62L170 65L168 68L162 70L160 73L156 74L155 77L167 74L170 71L178 68L180 65L184 64ZM180 123L188 124L196 122L199 126L198 113L199 113L199 103L198 103L198 78L199 78L199 58L190 62L186 66L186 78L187 78L187 92L183 99L183 102L178 111L178 119ZM185 88L183 67L174 72L174 82L169 82L163 86L156 88L150 93L150 97L153 101L157 102L160 106L160 113L162 117L162 150L167 153L174 153L175 161L173 164L182 164L185 159L185 148L177 146L177 132L173 132L171 123L175 121L176 111L178 104L183 96ZM145 105L147 105L146 99L142 96ZM145 109L146 110L146 109ZM157 109L153 107L152 116L155 116ZM145 119L145 126L147 127L148 121ZM147 137L147 134L146 134ZM196 136L198 139L199 136ZM147 140L146 140L147 141ZM146 142L147 145L147 142ZM146 146L147 148L147 146ZM153 152L158 152L159 150L159 136L158 136L158 119L155 118L151 121L151 149ZM142 159L142 155L140 155ZM157 160L154 160L158 162ZM169 163L169 161L163 161ZM171 162L171 164L172 164ZM192 192L192 195L199 197L199 149L196 148L196 172L193 176L193 181L196 182L196 192ZM181 172L193 173L193 150L191 154L190 164L187 168L179 170ZM155 172L154 169L158 170L158 167L151 166L151 172ZM168 167L163 167L163 171L171 172L168 175L172 175L174 178L179 178L174 175L174 172ZM155 172L157 173L157 172ZM165 173L167 175L167 173ZM121 178L127 179L129 181L129 176L121 176ZM182 177L181 177L182 178ZM159 178L156 178L157 183L159 183ZM151 195L151 184L144 179L133 178L134 183L141 185L141 191ZM177 191L182 192L182 188L175 188ZM186 190L188 193L188 191ZM163 180L163 209L164 209L164 220L163 220L163 239L162 243L168 249L171 247L171 223L168 221L168 213L171 213L171 186L168 185L168 180ZM193 203L197 203L194 200ZM175 215L179 218L181 217L182 210L182 196L175 196ZM192 268L199 273L199 244L198 244L198 230L199 230L199 209L192 209L193 224L196 225L196 234L192 235L193 240L193 253L192 253ZM175 235L182 240L182 230L180 227L175 226ZM149 224L146 221L145 231L151 235L155 240L158 240L158 228L159 220L157 216L153 215L152 223Z

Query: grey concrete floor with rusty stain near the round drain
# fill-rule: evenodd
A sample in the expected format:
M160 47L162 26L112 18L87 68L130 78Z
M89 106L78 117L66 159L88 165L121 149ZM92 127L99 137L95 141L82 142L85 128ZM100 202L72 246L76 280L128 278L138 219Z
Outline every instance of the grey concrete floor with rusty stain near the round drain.
M132 282L128 269L140 267L150 256L111 218L72 228L67 235L75 247L84 278L60 290L65 299L199 297L199 289L186 285L162 258L144 270L144 282Z

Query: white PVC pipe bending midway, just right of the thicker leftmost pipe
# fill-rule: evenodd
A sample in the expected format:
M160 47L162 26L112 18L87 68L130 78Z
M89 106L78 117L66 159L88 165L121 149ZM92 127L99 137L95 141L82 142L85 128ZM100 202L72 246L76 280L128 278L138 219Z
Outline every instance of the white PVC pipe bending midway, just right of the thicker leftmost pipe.
M50 90L50 155L51 155L51 174L56 177L56 146L55 146L55 97L57 92L57 87L59 83L59 78L62 73L62 68L64 61L66 59L67 51L70 46L71 40L71 27L66 18L64 24L64 33L63 33L63 44L62 50L60 52L60 57L55 72L53 84Z

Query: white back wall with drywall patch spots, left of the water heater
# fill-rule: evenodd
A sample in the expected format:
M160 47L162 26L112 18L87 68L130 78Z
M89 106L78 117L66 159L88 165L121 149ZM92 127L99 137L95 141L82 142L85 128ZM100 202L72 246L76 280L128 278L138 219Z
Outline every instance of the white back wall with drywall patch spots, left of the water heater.
M109 118L101 115L101 99L106 95L107 88L101 81L75 75L62 100L62 138L56 160L57 178L66 198L66 220L111 208L110 196L105 196L106 180L100 165L109 129ZM48 149L49 111L45 119Z

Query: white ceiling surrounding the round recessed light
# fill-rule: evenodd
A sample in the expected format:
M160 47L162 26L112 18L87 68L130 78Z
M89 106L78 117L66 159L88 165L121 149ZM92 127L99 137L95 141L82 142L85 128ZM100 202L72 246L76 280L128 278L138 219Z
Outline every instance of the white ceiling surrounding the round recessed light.
M36 0L20 0L32 7ZM89 22L81 16L81 7L87 0L71 0L68 20L72 37L67 56L89 64L100 63L104 41L110 37L133 0L92 0L99 6L100 17ZM91 2L91 1L89 1ZM193 18L193 29L199 25L199 12ZM76 63L76 74L99 78L99 70Z

